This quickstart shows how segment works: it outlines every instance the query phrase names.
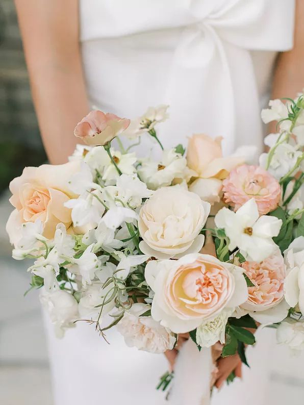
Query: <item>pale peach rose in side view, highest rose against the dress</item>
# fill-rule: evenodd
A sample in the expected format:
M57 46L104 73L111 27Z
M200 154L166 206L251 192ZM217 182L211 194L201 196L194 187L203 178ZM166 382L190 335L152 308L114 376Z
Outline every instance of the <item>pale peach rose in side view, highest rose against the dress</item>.
M221 137L213 139L208 135L196 134L188 141L188 167L194 170L198 177L190 185L189 190L211 204L220 200L222 180L232 169L244 163L243 157L224 158L221 140Z

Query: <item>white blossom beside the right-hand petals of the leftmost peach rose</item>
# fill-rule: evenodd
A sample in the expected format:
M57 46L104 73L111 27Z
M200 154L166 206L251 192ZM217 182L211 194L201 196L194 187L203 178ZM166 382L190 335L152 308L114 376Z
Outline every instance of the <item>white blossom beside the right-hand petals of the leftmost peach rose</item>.
M99 190L87 192L78 198L69 199L64 206L71 208L71 217L74 226L91 224L95 227L105 212L102 204L102 193Z

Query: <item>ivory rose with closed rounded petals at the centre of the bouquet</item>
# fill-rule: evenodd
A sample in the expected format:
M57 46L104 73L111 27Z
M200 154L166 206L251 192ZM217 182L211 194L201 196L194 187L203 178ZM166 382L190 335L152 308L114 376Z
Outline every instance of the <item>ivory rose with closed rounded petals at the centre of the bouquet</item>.
M209 202L181 186L157 190L139 212L141 251L158 259L198 252L204 244L200 231L209 212Z

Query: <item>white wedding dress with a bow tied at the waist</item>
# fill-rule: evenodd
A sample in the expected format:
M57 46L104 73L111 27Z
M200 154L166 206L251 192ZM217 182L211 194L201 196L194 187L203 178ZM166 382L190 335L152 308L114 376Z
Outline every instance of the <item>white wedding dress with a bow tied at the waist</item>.
M93 106L134 118L148 106L168 104L170 119L159 132L165 146L185 145L187 136L204 132L225 137L225 154L248 144L261 150L260 109L277 52L292 47L293 0L81 0L80 22ZM142 154L149 145L142 142ZM46 325L56 405L168 403L155 390L167 369L163 355L126 347L116 330L107 334L108 345L84 323L62 340ZM243 382L215 393L212 405L263 405L271 345L261 335L254 355L249 349ZM174 405L196 405L198 356L195 351L193 362L180 364L189 372L184 391L173 389L180 392Z

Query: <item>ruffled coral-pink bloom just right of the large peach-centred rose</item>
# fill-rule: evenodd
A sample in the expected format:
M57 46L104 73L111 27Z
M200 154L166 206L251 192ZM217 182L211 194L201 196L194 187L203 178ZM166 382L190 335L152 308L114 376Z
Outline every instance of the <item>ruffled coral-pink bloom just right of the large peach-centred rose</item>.
M244 262L241 267L255 285L255 287L248 287L249 296L242 308L259 311L257 306L269 308L282 300L286 268L280 250L261 263Z

